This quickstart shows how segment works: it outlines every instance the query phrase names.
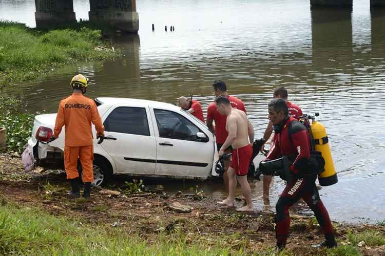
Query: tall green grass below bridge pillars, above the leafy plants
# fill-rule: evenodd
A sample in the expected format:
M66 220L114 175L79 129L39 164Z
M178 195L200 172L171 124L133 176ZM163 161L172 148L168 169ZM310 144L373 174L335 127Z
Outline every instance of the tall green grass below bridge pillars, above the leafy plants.
M67 63L112 58L117 53L94 49L107 44L101 38L100 30L85 27L37 31L1 21L0 84L18 85Z

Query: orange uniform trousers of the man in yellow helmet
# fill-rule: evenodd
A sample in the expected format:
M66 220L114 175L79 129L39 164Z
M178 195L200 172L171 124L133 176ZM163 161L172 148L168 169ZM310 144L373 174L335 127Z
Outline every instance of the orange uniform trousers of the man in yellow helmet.
M78 159L82 164L83 182L93 181L93 145L89 146L65 146L64 147L64 167L67 179L79 177Z

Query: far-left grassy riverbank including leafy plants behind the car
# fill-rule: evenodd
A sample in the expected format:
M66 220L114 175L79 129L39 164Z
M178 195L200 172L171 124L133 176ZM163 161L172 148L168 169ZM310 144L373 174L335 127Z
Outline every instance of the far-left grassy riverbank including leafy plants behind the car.
M38 31L0 22L0 126L7 129L8 150L21 153L32 129L33 115L23 104L24 81L64 65L116 56L120 52L102 40L100 30L79 27Z

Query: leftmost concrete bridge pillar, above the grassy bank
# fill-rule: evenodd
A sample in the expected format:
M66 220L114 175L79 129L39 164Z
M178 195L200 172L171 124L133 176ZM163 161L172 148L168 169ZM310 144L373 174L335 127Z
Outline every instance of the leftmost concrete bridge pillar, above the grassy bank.
M36 27L74 23L73 0L35 0Z

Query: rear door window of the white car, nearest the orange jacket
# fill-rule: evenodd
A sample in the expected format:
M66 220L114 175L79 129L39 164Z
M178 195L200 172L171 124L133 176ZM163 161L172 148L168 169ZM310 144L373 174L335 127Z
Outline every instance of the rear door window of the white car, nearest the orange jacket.
M107 132L150 136L146 110L131 106L114 109L104 121L104 129Z

